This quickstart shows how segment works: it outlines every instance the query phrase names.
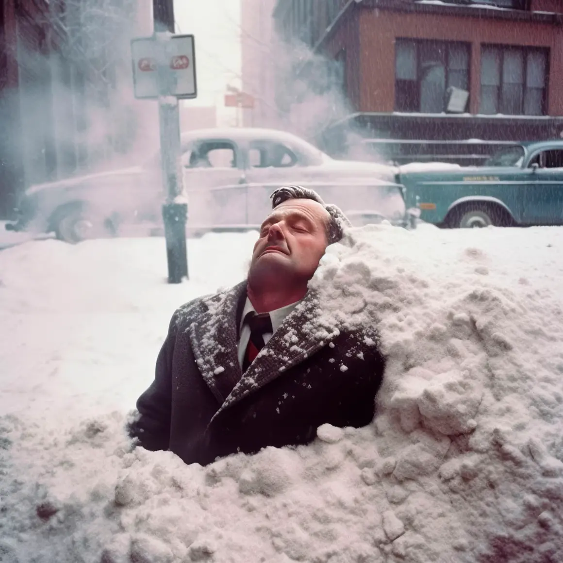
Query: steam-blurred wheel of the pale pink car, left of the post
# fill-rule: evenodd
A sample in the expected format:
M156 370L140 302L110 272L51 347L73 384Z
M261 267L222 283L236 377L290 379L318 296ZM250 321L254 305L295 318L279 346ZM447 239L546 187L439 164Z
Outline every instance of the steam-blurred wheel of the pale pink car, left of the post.
M83 204L60 209L54 228L57 239L71 244L116 234L111 220L101 218L92 208Z

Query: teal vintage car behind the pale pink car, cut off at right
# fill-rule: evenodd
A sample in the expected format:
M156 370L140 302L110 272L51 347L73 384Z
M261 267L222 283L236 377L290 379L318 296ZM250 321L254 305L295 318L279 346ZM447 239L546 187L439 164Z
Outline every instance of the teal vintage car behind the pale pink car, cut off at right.
M423 221L441 227L563 225L563 140L507 145L480 167L401 168L396 181L406 188L407 207L418 208Z

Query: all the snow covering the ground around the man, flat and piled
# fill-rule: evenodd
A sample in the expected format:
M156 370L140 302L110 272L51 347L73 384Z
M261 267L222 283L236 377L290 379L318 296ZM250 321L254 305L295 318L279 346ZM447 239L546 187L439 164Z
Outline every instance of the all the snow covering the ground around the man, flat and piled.
M185 466L128 411L173 310L243 278L256 234L0 252L0 560L563 560L563 229L351 230L312 284L377 323L376 421ZM353 243L353 244L351 244Z

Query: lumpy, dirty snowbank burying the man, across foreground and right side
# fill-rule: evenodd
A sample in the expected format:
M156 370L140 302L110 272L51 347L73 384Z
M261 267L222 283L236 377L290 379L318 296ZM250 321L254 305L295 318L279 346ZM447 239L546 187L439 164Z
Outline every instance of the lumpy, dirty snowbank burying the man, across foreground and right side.
M327 319L377 323L373 425L202 468L132 449L124 410L16 412L0 420L0 559L561 561L563 233L378 225L347 242L312 284Z

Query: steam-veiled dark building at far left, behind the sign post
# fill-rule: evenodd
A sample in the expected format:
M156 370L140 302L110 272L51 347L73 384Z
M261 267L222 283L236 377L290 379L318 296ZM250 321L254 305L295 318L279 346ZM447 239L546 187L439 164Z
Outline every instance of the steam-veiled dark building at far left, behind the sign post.
M133 99L129 39L139 23L147 27L150 7L150 0L0 0L0 218L14 213L29 185L133 150L142 116L154 111L145 105L139 113L150 102Z

